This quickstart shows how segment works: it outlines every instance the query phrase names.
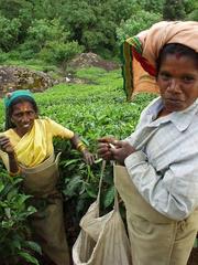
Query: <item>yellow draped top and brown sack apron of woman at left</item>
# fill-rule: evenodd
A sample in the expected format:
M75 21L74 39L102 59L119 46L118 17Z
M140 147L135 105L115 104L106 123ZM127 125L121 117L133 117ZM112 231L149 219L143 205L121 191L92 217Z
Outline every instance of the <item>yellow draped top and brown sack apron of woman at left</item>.
M14 148L16 160L24 178L23 190L33 195L32 205L37 210L30 224L43 252L56 264L69 264L69 250L66 241L58 160L54 156L53 137L72 139L74 132L50 118L35 119L32 129L20 137L14 129L3 132ZM9 170L8 155L0 156ZM44 206L43 206L44 204Z

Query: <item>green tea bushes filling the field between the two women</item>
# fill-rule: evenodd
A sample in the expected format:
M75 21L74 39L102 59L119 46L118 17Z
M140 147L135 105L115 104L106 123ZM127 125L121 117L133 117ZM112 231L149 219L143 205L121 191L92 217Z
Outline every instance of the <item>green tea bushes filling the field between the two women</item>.
M81 68L76 75L86 80L87 84L58 84L44 93L35 94L40 115L51 117L77 132L96 157L96 163L89 167L68 141L54 140L55 151L62 151L59 190L65 201L70 245L76 240L80 218L97 198L101 170L101 159L97 156L98 139L108 135L124 139L134 130L142 109L156 96L141 94L128 103L122 91L120 71ZM2 116L0 124L3 124ZM107 163L101 192L102 212L112 208L113 198L112 165Z

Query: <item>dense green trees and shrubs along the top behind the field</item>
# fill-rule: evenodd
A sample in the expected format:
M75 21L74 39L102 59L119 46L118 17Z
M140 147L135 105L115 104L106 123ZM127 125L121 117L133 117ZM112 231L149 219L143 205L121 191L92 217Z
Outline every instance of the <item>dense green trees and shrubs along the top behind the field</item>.
M65 63L81 51L118 55L125 36L160 20L198 20L196 0L0 0L1 61Z

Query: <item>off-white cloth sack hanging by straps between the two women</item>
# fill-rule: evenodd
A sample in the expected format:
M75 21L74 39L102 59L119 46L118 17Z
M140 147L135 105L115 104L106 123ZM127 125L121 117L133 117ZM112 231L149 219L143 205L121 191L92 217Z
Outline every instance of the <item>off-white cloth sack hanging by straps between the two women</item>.
M80 221L81 231L73 246L74 265L132 265L130 243L119 212L117 191L114 208L99 216L101 180L106 162L102 162L97 201Z

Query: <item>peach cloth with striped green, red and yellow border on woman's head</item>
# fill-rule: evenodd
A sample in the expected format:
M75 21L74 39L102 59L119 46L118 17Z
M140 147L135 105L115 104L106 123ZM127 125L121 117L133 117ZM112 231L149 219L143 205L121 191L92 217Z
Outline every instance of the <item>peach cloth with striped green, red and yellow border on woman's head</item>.
M158 93L156 60L168 43L179 43L198 52L198 22L161 21L122 44L122 74L127 99L139 92Z

